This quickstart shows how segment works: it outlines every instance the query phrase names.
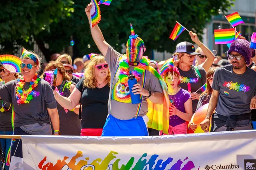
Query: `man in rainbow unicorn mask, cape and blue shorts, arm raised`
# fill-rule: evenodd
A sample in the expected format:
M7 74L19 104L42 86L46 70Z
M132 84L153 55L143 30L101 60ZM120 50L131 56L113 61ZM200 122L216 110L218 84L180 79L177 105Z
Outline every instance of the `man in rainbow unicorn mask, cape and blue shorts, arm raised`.
M85 9L89 22L91 8L90 3ZM104 40L98 25L91 28L91 33L111 71L109 115L102 136L148 136L147 125L157 130L162 130L163 126L166 126L165 130L168 133L168 99L166 100L163 90L166 84L163 82L162 87L160 75L148 65L149 59L143 56L146 50L144 42L135 34L132 25L131 36L125 47L126 54L118 53ZM138 82L132 88L128 87L130 71ZM131 103L131 91L142 96L141 104ZM155 109L156 107L158 109Z

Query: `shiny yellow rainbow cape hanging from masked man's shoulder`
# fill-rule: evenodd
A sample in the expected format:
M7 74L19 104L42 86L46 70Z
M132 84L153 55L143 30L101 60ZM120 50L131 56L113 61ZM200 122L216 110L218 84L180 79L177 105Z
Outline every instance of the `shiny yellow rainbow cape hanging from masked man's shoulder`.
M162 79L160 74L151 66L146 66L146 69L150 71L160 81L163 89L164 102L162 105L155 104L147 99L148 102L148 113L149 118L148 127L156 130L163 130L163 133L168 134L169 129L169 97L167 94L166 82Z

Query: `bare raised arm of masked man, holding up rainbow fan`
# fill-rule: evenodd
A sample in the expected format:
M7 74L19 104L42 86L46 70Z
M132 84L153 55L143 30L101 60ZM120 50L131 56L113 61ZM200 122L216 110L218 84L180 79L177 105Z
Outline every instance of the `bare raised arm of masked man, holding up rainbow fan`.
M92 8L92 3L88 4L87 7L85 8L85 13L88 17L89 24L90 24L90 10ZM90 28L91 34L93 37L93 40L97 47L99 48L99 51L105 56L108 51L108 43L105 41L102 31L99 29L98 24L94 26L93 28Z

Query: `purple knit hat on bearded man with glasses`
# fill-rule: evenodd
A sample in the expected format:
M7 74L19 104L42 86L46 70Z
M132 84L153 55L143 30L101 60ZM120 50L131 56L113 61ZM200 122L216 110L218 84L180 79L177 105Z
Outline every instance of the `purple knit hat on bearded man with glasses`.
M250 42L243 39L238 39L230 45L230 49L227 51L227 54L230 54L232 51L238 52L241 54L246 64L250 64L250 58L255 56L255 50L253 48L250 48Z

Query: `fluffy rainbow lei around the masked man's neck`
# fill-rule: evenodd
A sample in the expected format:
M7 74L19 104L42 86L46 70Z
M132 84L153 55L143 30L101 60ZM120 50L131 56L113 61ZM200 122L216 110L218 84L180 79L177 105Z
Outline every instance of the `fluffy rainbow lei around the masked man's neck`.
M134 70L131 71L131 73L137 79L137 82L140 81L140 77L146 70L146 66L148 66L148 64L149 64L148 57L143 56L143 58L140 59L140 64L134 67ZM130 75L130 73L129 73L129 64L128 64L128 59L126 54L124 54L120 59L119 67L120 67L120 71L119 71L118 78L120 79L120 82L122 84L128 85L128 76Z

